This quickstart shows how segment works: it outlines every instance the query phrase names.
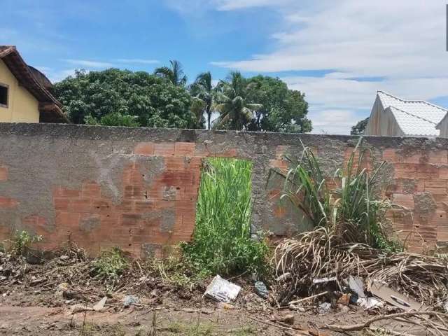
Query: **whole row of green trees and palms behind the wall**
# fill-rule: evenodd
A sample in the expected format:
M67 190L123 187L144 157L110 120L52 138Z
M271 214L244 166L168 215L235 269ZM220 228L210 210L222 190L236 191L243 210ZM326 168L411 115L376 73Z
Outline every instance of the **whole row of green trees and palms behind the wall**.
M76 71L52 87L73 123L128 127L310 132L304 94L279 78L231 72L216 87L209 71L186 90L180 62L144 71ZM213 113L218 119L211 123ZM204 116L207 118L205 120Z

